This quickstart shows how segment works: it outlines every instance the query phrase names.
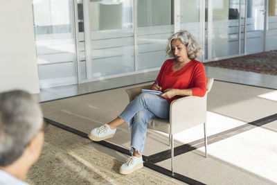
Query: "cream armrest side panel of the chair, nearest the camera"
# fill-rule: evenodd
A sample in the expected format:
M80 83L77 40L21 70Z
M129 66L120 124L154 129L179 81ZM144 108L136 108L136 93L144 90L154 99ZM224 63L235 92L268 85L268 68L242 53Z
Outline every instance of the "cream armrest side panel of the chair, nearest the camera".
M206 123L207 93L204 97L186 96L170 104L170 134Z

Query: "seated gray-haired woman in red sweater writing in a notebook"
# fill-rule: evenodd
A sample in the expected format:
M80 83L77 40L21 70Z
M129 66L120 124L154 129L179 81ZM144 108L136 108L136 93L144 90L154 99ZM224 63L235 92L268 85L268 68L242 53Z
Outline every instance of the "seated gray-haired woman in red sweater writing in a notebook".
M139 94L117 118L89 133L91 140L101 141L114 136L116 127L125 122L129 123L129 127L132 127L132 157L120 167L121 174L129 174L143 167L142 153L148 121L155 117L168 119L172 100L182 96L206 94L204 66L195 60L202 55L202 49L195 37L187 30L171 35L168 38L166 54L172 59L163 63L151 87L152 90L162 91L162 94Z

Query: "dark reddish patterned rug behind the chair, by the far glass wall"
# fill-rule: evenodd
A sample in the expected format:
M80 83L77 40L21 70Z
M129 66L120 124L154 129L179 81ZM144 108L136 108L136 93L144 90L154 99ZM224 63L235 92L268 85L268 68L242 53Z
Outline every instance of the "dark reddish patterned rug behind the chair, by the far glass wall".
M204 65L277 76L277 50L206 62Z

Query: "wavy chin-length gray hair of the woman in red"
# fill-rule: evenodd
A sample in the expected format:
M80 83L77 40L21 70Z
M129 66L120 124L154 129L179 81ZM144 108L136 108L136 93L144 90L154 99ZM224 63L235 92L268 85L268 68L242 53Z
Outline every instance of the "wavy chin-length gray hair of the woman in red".
M183 43L188 51L188 58L193 60L195 58L199 58L203 55L203 51L197 42L197 39L191 35L187 30L180 30L177 33L174 33L168 38L168 44L166 45L166 55L170 58L175 58L174 53L171 49L171 42L173 39L179 39L181 43Z

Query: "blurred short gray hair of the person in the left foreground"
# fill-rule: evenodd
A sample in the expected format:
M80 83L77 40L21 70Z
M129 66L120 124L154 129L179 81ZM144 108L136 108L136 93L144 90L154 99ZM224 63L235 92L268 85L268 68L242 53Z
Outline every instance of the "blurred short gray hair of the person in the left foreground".
M0 94L0 166L19 159L42 127L42 110L26 91Z

